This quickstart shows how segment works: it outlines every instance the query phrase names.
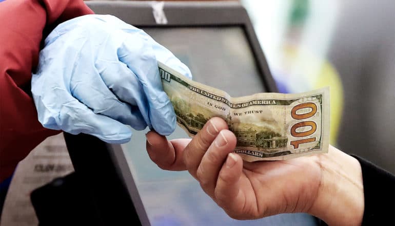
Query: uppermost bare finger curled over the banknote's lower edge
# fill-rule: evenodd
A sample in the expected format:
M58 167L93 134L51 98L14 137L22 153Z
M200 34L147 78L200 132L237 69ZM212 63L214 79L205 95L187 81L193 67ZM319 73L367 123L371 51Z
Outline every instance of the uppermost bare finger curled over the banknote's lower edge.
M189 173L196 178L196 171L207 149L221 130L228 129L225 120L214 117L207 121L184 150L183 159Z

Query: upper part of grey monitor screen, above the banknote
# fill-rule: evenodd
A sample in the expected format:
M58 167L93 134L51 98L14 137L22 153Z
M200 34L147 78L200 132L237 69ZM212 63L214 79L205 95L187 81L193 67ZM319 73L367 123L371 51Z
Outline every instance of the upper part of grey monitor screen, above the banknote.
M265 92L241 27L142 28L186 64L193 80L232 97Z

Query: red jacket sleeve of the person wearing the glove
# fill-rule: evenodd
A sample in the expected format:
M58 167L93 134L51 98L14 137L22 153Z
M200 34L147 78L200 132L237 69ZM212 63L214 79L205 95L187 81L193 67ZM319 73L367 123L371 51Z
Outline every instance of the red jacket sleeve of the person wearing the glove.
M31 98L31 72L43 33L73 17L92 14L82 0L6 0L0 3L0 181L46 137Z

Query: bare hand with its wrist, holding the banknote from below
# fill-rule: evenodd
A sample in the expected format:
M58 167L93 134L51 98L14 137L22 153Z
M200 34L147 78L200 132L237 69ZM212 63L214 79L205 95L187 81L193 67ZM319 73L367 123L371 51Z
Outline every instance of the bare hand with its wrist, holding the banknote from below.
M352 169L337 161L345 159L349 167L360 170L359 163L333 147L325 155L243 162L232 153L236 137L220 118L210 119L192 140L167 141L153 131L147 139L148 154L157 165L164 170L188 170L232 218L304 212L333 224L358 225L362 220L361 174L338 175Z

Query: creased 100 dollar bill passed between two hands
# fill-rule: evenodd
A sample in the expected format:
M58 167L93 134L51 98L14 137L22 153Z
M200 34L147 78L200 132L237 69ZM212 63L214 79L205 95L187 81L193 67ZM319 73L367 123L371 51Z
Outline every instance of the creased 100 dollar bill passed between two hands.
M212 117L223 118L245 161L284 160L326 153L329 146L329 88L304 93L256 93L230 97L159 62L177 124L190 137ZM248 87L240 87L248 88Z

